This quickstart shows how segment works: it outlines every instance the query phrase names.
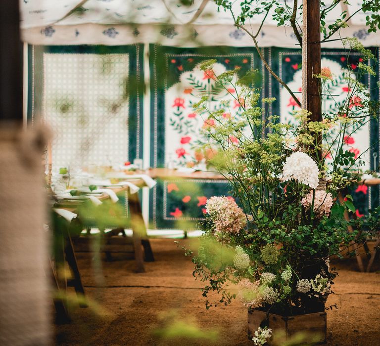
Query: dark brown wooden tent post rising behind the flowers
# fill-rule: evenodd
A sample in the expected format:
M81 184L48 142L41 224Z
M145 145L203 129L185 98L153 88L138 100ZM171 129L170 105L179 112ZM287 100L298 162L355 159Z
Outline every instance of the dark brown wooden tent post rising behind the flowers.
M321 73L320 0L303 0L302 108L311 112L309 121L322 121L321 83L313 77ZM318 136L317 143L321 142ZM312 148L311 148L312 149ZM322 153L316 153L317 161Z

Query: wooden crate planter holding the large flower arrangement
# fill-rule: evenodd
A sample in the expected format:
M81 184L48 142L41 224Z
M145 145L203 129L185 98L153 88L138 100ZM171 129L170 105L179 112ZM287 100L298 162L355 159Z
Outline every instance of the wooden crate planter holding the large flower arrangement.
M254 332L260 327L261 322L266 318L266 312L248 309L248 338L252 340ZM269 314L269 326L272 329L273 337L268 342L269 345L278 343L281 340L290 340L297 333L304 333L306 337L313 338L315 343L326 343L327 320L326 312L308 313L304 315L282 316L274 313ZM276 340L276 334L277 340ZM284 340L285 339L285 340ZM302 345L305 345L303 343Z

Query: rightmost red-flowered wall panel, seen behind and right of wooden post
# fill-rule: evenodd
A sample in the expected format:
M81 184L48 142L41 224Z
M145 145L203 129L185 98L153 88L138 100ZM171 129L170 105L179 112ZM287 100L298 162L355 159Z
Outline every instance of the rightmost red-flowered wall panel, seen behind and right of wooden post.
M273 48L271 52L272 66L275 71L277 70L280 77L288 84L290 89L301 100L301 84L302 84L302 71L301 61L302 56L300 51L291 49L276 49ZM362 61L360 53L351 52L347 57L343 51L339 50L323 50L322 51L322 72L328 76L323 87L323 103L322 111L324 113L336 114L338 108L347 101L348 93L351 91L349 88L346 77L357 79L358 63ZM347 65L351 67L354 73L349 72ZM364 92L357 92L351 95L349 100L350 110L355 111L355 115L362 114L361 108L363 102L369 97L378 99L373 91L376 87L376 79L365 75L360 81L363 83L367 90ZM277 101L272 106L274 113L281 114L281 121L285 123L294 122L293 111L300 109L290 94L285 88L279 88L277 84L273 84L271 89L272 95L277 97ZM271 96L272 96L271 95ZM344 114L342 114L344 116ZM336 137L339 131L339 126L333 127L330 130L332 138ZM355 154L355 158L361 158L364 161L364 166L361 166L363 171L374 169L379 165L378 161L378 126L374 121L367 122L364 126L359 127L359 124L350 125L343 138L343 150L348 150ZM329 140L328 140L329 143ZM367 148L372 146L371 150ZM332 155L334 149L325 152L327 163L332 162ZM350 191L354 197L355 205L358 210L357 216L361 216L368 211L368 208L374 207L378 203L379 188L367 188L367 186L358 186Z

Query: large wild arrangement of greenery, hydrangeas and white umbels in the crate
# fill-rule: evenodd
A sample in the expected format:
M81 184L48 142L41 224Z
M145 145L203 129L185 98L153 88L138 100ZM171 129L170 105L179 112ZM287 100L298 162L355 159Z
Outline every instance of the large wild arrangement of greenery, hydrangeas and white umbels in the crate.
M364 56L373 58L368 52ZM201 69L212 71L213 63L207 61ZM206 308L238 297L249 308L285 315L324 311L336 276L329 257L366 241L379 225L379 211L367 218L347 217L356 209L345 193L360 181L363 157L343 150L344 141L364 118L375 117L373 107L363 101L366 108L360 108L358 117L350 102L362 86L348 79L351 96L339 112L310 122L310 113L299 110L295 124L282 124L259 106L258 90L250 87L255 71L233 84L237 73L212 76L220 87L236 90L232 97L242 108L238 117L223 116L232 114L229 101L209 110L210 95L201 95L194 105L198 114L207 112L205 121L213 121L213 127L204 128L209 146L218 148L209 164L229 180L234 197L207 200L201 247L195 255L190 252L193 275L206 283ZM332 133L338 135L332 138ZM345 196L341 203L339 194ZM211 301L213 293L219 294L216 301ZM258 332L257 345L269 331Z

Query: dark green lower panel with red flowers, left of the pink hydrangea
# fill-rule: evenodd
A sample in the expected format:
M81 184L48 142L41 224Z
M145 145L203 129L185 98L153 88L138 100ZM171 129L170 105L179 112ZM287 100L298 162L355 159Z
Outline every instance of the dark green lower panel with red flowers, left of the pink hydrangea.
M150 205L151 227L197 229L197 223L204 217L207 199L227 196L229 189L225 180L158 179L152 191L155 204Z

